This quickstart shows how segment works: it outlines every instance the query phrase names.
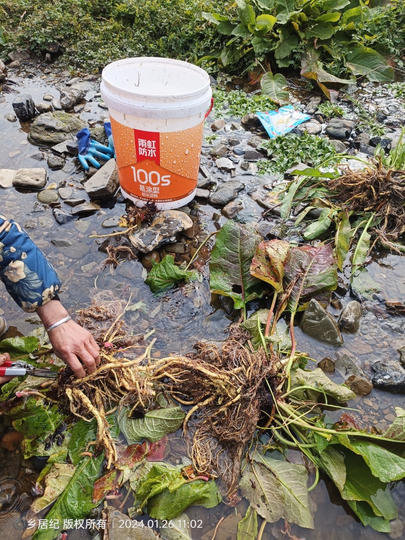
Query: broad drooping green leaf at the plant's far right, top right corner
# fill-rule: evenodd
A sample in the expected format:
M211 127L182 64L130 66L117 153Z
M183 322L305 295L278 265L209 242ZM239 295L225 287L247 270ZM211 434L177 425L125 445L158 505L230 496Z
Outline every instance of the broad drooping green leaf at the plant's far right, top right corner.
M394 80L394 70L386 60L377 51L363 45L356 45L346 55L346 66L353 75L366 75L372 82L388 83Z

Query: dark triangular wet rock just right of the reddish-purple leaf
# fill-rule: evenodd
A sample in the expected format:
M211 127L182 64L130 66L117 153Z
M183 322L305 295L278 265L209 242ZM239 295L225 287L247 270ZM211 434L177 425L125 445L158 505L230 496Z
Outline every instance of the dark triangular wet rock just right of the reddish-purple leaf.
M343 344L343 338L332 315L314 299L309 302L303 313L301 329L302 332L323 343L335 346Z

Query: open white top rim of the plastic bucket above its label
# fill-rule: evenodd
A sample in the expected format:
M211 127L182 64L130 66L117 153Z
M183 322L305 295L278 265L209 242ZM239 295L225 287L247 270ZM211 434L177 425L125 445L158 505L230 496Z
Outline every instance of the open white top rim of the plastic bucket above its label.
M100 91L112 109L141 118L184 118L205 112L212 96L208 73L170 58L125 58L107 65Z

